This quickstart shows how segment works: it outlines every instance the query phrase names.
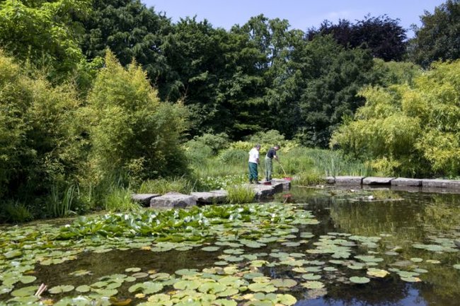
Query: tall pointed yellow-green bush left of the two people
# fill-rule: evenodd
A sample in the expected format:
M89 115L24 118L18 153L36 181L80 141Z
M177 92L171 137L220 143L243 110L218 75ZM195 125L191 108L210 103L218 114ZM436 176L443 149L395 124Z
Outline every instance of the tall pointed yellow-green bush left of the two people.
M91 138L89 167L96 182L120 170L134 180L186 172L179 146L185 110L160 102L136 64L125 70L107 52L83 113Z

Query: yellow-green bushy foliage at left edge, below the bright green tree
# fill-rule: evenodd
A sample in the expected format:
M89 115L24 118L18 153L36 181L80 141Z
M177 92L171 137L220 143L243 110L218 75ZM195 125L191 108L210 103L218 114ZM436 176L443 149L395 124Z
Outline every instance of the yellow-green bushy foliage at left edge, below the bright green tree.
M74 87L24 76L3 54L0 63L0 192L33 197L74 180L84 158Z

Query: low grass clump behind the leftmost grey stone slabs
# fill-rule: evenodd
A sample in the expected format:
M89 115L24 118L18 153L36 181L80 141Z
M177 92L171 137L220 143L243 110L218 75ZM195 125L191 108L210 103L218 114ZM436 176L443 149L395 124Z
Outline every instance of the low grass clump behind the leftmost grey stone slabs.
M139 188L141 194L167 194L168 192L180 192L181 194L190 194L197 187L195 180L189 180L186 177L173 177L171 179L147 180L142 182Z

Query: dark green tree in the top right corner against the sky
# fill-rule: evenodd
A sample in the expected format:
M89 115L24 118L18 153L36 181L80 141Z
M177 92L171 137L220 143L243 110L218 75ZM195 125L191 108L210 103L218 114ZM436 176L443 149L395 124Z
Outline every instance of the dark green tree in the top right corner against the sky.
M412 59L427 68L433 61L460 58L460 0L447 0L434 13L425 11L410 41Z

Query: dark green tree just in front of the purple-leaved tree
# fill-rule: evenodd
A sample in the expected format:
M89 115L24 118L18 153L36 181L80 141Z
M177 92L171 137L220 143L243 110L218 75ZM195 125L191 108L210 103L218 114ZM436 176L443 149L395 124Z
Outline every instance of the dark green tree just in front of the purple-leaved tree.
M345 49L329 35L306 45L304 61L309 65L299 100L302 124L297 136L308 146L326 147L344 117L364 105L357 93L374 80L372 54L366 49Z

